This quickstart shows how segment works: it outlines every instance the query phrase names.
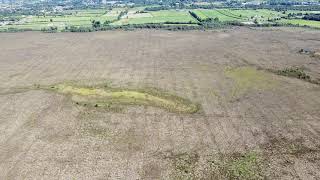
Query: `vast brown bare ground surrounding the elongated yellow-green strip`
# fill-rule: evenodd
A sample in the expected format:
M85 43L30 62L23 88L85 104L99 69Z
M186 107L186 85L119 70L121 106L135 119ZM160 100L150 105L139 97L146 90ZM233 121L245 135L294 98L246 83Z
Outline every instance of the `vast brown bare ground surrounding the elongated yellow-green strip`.
M319 179L320 31L0 34L0 179ZM30 88L158 88L201 105L77 105Z

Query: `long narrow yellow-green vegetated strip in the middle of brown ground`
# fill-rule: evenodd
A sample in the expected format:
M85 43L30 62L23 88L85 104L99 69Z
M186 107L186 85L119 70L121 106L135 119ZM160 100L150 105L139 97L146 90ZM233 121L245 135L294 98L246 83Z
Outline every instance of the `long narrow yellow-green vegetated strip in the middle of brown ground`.
M199 105L156 89L116 89L104 87L80 87L57 84L43 89L70 95L77 104L109 108L112 105L144 105L163 108L170 112L196 113Z

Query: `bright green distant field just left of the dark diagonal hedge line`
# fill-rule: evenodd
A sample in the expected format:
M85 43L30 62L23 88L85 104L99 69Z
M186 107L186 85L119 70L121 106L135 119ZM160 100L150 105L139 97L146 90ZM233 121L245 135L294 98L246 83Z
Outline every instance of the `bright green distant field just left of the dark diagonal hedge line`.
M180 23L196 23L187 10L163 10L152 11L147 13L130 14L124 16L120 21L115 22L115 25L123 24L145 24L145 23L164 23L164 22L180 22Z

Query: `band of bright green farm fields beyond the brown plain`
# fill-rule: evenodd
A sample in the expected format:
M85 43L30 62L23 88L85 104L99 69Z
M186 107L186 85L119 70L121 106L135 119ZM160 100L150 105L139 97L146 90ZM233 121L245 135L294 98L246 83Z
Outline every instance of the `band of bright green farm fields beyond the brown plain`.
M301 19L287 20L283 17L288 17L289 13L320 13L320 11L272 11L268 9L180 9L180 10L159 10L159 11L144 11L146 7L141 6L133 8L113 8L111 9L82 9L82 10L66 10L57 12L54 15L39 15L39 16L17 16L11 17L1 16L1 19L16 19L11 22L0 26L0 31L9 28L14 29L29 29L41 30L43 28L57 27L58 30L63 30L68 26L78 27L92 27L92 21L100 21L103 24L105 21L112 21L111 25L128 25L128 24L146 24L146 23L164 23L164 24L184 24L196 25L198 20L192 17L189 11L194 12L200 19L205 20L208 18L218 18L220 22L236 21L244 24L267 24L272 22L282 22L299 24L301 26L319 27L317 21L308 21ZM121 12L122 16L118 19ZM302 18L296 16L296 18Z

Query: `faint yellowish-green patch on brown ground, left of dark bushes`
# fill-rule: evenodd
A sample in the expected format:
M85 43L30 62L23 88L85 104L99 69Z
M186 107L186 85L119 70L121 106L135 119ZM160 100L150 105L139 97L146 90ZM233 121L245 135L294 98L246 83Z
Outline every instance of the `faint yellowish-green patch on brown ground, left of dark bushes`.
M270 89L277 84L271 74L254 67L227 68L225 75L234 81L232 97L249 90Z

